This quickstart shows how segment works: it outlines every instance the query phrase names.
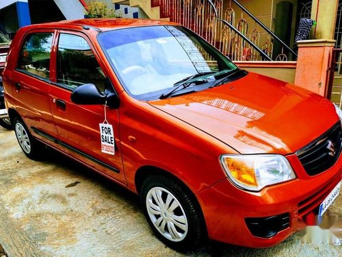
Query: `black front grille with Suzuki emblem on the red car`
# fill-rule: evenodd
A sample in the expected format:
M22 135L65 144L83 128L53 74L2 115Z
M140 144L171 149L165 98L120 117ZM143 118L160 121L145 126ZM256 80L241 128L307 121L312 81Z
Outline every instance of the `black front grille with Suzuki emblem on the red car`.
M341 154L341 122L322 136L296 151L308 175L317 175L334 165Z

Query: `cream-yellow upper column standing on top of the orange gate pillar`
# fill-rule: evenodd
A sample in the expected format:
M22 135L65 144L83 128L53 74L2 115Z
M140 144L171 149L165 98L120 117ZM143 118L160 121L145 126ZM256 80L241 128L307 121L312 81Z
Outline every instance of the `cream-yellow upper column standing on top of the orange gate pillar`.
M312 38L334 39L339 0L313 0L311 19L317 22Z

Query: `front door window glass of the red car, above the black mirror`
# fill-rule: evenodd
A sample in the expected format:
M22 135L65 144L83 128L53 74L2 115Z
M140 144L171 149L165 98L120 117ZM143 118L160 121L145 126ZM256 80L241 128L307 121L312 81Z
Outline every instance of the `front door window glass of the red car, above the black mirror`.
M105 75L88 42L81 36L60 34L57 51L57 83L75 89L82 84L94 84L105 90Z

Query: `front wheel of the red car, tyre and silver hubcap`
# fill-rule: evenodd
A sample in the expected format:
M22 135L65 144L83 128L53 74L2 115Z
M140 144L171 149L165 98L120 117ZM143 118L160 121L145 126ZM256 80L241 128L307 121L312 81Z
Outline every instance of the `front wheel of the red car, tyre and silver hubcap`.
M202 242L202 212L183 184L163 176L148 177L142 184L140 198L150 227L163 243L185 250Z

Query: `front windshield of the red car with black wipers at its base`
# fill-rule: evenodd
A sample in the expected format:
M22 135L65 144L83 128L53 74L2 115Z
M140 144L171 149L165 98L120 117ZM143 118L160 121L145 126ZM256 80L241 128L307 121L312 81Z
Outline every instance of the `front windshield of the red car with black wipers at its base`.
M181 26L116 29L99 34L98 41L135 99L159 99L174 93L175 86L190 83L195 91L202 90L237 70L226 56Z

